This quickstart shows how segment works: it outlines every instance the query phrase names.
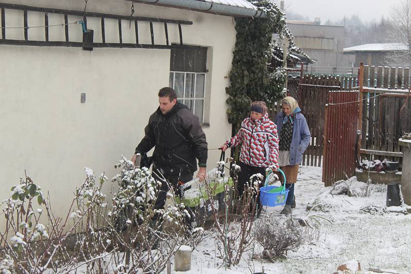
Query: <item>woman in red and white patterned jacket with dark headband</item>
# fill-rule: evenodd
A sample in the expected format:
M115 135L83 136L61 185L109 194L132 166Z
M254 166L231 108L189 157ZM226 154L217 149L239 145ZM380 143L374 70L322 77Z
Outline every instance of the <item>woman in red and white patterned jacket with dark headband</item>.
M244 184L250 177L260 173L264 184L266 169L278 170L277 126L268 118L264 102L251 103L250 115L241 123L241 128L233 138L221 146L222 151L229 147L241 146L238 174L238 193L244 192Z

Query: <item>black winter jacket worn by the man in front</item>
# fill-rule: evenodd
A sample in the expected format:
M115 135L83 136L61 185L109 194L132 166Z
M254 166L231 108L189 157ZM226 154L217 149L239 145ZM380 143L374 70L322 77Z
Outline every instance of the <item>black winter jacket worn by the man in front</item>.
M207 140L200 122L188 107L177 103L170 112L160 108L148 120L145 136L136 147L144 154L154 146L153 163L166 174L193 173L198 166L206 167Z

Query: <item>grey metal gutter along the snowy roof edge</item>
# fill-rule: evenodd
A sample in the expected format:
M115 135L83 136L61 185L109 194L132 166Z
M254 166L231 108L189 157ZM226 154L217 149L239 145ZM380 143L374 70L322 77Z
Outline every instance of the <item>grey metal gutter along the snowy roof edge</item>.
M132 0L128 0L132 1ZM192 9L196 11L214 13L219 15L231 15L241 17L253 17L253 18L265 18L267 15L263 11L257 9L246 9L240 7L233 7L227 5L221 5L216 3L209 3L197 0L134 0L134 2L152 4L159 6L168 6L183 9ZM251 4L251 3L250 3Z

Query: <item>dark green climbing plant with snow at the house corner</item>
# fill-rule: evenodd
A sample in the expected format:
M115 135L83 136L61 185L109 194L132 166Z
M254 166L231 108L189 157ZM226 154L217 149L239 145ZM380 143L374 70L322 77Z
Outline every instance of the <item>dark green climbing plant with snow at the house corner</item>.
M264 11L267 18L235 18L237 41L229 74L231 86L226 88L229 95L228 120L235 127L235 131L249 112L252 101L264 101L270 108L283 96L286 80L284 65L269 68L272 57L283 64L274 54L281 47L281 41L288 39L291 51L305 55L292 41L285 13L277 5L269 0L260 0L253 4Z

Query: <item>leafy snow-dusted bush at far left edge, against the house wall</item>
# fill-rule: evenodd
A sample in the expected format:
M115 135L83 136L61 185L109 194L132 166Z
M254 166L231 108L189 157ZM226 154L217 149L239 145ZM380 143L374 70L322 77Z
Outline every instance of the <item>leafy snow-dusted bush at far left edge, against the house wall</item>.
M0 247L3 248L0 256L4 258L1 267L11 272L10 269L16 272L40 270L40 262L46 258L43 251L50 247L46 241L37 241L49 239L48 228L40 223L44 209L36 208L44 207L47 215L50 212L41 188L25 175L20 178L20 184L11 188L10 197L2 206L6 230L0 231Z

